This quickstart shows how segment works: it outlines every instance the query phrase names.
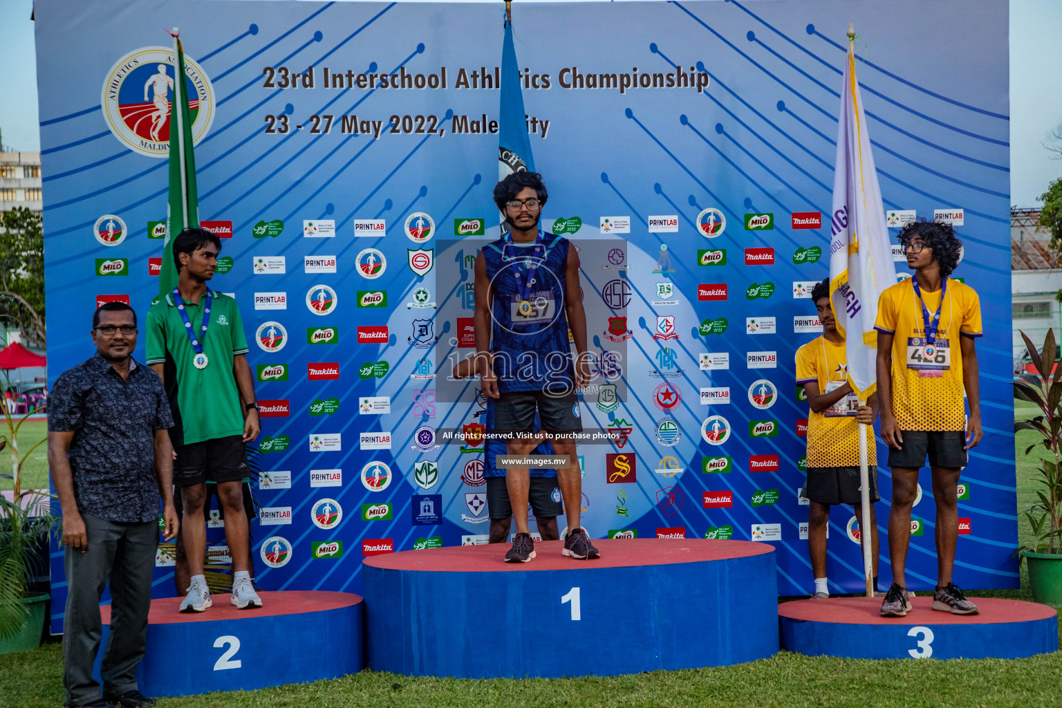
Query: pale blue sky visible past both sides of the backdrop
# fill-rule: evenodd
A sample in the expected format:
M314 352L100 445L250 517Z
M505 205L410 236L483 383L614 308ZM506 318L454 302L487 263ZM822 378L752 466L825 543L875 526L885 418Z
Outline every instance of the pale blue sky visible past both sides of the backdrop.
M1000 0L1005 1L1005 0ZM0 0L0 139L5 150L40 150L32 0ZM1062 148L1062 91L1055 75L1062 66L1062 2L1010 0L1010 203L1039 206L1062 159L1044 144ZM11 99L11 100L8 100Z

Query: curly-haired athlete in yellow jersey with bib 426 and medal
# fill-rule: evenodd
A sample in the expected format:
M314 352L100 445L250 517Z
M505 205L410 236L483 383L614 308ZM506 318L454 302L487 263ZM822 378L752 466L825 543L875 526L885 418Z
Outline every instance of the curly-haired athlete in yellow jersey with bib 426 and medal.
M910 609L904 570L910 545L911 505L919 469L929 459L937 504L937 589L932 608L974 615L977 605L952 582L959 533L956 500L966 450L981 439L975 338L981 309L973 288L948 278L962 242L949 224L914 222L900 232L907 266L914 271L881 293L877 306L877 394L881 438L889 446L892 510L889 555L892 587L881 604L885 617ZM970 401L965 415L963 391Z

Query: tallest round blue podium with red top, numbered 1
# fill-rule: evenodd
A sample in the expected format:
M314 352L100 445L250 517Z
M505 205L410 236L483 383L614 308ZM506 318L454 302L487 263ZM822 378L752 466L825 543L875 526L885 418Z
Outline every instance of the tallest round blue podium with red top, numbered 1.
M459 678L610 676L778 651L774 548L705 539L562 541L527 564L469 546L364 562L369 667Z

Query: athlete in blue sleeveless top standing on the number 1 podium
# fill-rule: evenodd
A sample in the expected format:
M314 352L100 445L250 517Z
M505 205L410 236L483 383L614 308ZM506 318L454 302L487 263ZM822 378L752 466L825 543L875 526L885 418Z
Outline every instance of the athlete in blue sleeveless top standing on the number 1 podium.
M487 432L511 435L509 454L528 455L542 442L543 435L533 433L537 412L556 454L567 455L568 465L556 470L568 521L563 553L582 560L600 557L580 525L582 478L571 435L583 429L576 390L589 383L586 313L579 255L567 239L538 229L547 198L542 175L534 172L514 172L494 188L510 232L476 257L477 370L483 393L497 399L496 428ZM512 507L527 508L528 468L508 469L506 486ZM517 514L515 520L506 560L527 563L535 556L534 542L527 517Z

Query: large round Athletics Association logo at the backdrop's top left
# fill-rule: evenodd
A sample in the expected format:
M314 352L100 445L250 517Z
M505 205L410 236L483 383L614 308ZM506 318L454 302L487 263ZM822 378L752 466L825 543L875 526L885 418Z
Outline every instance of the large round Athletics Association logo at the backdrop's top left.
M110 67L100 91L103 119L114 136L130 150L149 157L167 157L173 117L175 70L172 47L141 47ZM215 97L210 80L185 55L182 94L188 100L192 144L213 122Z

